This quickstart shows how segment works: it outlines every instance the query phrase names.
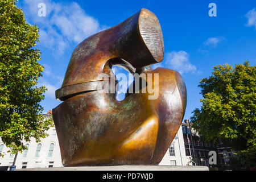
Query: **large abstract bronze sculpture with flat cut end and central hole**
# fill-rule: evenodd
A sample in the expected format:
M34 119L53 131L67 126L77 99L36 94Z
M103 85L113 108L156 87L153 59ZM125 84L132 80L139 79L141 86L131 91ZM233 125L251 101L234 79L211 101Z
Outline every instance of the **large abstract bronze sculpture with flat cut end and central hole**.
M166 68L158 18L142 9L82 41L73 51L56 98L53 120L64 166L157 165L179 130L187 104L183 79ZM133 93L122 101L106 93L101 73L120 65L132 73L158 73L159 96Z

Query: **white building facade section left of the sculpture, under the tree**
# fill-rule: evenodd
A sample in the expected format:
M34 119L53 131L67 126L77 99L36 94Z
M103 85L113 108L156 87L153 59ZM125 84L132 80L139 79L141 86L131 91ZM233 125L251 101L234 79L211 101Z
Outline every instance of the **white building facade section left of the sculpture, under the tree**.
M49 110L47 114L44 114L44 117L52 117L51 111ZM47 133L49 137L42 139L40 143L36 143L35 139L31 139L31 142L25 144L28 150L18 153L15 162L16 169L63 167L55 127L51 127ZM13 165L15 154L7 152L9 150L0 139L0 153L4 154L3 158L0 157L0 167Z

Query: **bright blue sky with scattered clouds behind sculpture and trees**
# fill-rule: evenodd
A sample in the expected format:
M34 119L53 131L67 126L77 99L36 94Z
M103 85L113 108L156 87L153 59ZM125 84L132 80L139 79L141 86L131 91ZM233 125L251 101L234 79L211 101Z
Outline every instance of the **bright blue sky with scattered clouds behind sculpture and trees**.
M38 4L46 4L46 16L38 16ZM217 16L210 17L209 3L216 3ZM187 86L184 119L200 107L200 78L214 65L256 63L256 1L52 1L20 0L28 23L40 28L45 69L39 85L48 91L41 102L44 111L61 103L55 90L61 87L73 49L98 31L115 26L142 8L159 19L164 38L164 60L153 67L179 71Z

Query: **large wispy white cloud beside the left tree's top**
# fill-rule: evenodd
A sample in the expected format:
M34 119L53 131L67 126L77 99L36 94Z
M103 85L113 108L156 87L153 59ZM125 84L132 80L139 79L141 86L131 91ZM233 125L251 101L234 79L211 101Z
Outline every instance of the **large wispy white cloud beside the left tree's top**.
M38 4L46 4L46 16L38 16ZM51 0L24 0L24 10L29 22L40 28L40 42L59 55L71 43L80 43L88 36L103 30L97 19L85 13L76 3Z

